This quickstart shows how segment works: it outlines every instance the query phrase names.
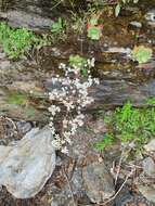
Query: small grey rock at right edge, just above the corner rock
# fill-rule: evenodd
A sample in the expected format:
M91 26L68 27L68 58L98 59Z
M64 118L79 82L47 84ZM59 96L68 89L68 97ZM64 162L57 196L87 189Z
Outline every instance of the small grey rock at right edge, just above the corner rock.
M155 163L151 157L143 160L143 171L145 175L155 178Z

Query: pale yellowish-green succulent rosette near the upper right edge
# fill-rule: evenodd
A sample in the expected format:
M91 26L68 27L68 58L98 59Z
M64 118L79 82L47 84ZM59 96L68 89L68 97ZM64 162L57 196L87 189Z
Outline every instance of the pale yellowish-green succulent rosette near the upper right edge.
M134 61L138 61L139 64L142 64L146 63L152 57L153 50L144 46L135 46L131 54Z

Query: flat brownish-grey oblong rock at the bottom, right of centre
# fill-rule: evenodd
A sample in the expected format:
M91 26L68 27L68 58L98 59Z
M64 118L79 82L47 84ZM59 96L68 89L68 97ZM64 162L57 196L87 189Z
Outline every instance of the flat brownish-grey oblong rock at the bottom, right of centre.
M93 163L82 170L87 195L93 203L102 203L115 194L113 178L102 163Z

